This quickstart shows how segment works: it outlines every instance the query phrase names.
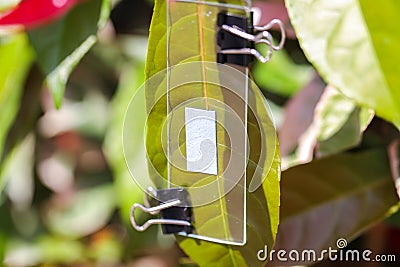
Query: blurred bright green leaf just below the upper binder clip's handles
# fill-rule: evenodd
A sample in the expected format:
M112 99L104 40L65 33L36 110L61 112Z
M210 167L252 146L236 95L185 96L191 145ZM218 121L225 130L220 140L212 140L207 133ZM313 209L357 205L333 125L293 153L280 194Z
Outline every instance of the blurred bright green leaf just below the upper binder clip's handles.
M266 53L265 45L257 50ZM313 77L313 68L295 64L286 51L275 53L267 64L256 61L252 68L254 80L264 90L289 97L303 88Z

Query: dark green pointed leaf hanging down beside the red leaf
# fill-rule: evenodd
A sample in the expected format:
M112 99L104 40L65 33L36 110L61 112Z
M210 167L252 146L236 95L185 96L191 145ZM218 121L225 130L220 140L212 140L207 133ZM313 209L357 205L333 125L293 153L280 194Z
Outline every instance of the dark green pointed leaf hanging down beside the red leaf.
M109 5L109 0L84 1L60 20L28 32L56 107L61 106L72 70L96 42Z

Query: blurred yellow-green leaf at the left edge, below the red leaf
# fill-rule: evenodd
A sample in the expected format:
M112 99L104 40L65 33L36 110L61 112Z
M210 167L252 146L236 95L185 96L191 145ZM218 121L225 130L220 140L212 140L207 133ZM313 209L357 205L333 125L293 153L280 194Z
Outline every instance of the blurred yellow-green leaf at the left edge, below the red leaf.
M17 115L33 53L25 35L0 38L0 163L5 140ZM18 63L18 64L16 64ZM1 172L1 166L0 166ZM0 181L0 191L4 181Z

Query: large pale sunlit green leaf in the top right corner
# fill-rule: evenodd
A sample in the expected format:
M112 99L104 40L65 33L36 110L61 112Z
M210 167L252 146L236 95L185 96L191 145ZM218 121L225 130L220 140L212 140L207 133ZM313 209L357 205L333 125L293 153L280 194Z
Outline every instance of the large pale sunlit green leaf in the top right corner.
M286 0L286 6L326 81L400 128L400 2Z

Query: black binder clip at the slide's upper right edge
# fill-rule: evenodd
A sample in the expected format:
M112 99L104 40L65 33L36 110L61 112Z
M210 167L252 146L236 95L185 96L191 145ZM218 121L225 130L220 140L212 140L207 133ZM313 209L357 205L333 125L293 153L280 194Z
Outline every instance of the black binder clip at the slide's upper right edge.
M281 32L279 44L275 44L270 30L277 25ZM260 62L266 63L271 59L275 50L282 49L286 34L282 21L273 19L264 26L254 26L252 13L250 17L231 15L226 12L218 14L217 42L220 51L217 53L218 63L229 63L247 67L256 57ZM262 55L255 49L255 44L266 44L268 47L267 55Z

